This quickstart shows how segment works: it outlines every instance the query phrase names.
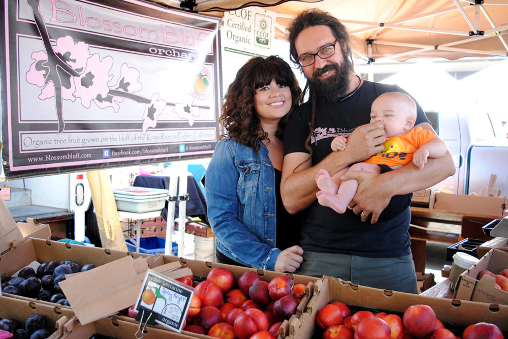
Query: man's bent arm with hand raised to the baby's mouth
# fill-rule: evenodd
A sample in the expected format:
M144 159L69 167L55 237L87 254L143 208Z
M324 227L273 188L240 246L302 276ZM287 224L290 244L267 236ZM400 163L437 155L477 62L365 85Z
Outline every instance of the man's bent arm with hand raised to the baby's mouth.
M383 125L379 122L358 127L348 138L343 151L331 152L319 164L312 166L309 155L294 152L284 157L280 194L284 207L296 213L308 207L315 199L315 177L324 168L333 175L352 163L363 161L383 150L385 142Z

